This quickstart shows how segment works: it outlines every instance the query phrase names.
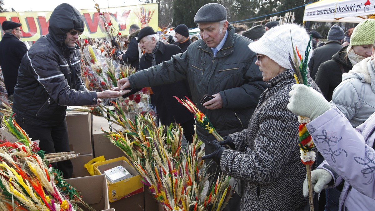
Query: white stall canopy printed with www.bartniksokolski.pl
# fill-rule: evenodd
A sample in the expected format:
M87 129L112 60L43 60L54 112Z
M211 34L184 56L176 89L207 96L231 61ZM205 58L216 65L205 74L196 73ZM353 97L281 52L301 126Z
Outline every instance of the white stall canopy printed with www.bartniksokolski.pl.
M321 0L305 6L303 21L361 22L374 14L374 0Z

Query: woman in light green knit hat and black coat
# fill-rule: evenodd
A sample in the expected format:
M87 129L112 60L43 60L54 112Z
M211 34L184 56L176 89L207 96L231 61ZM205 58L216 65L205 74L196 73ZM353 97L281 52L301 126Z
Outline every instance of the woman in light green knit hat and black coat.
M333 90L341 83L342 74L349 72L354 64L371 56L374 40L375 20L365 19L354 28L350 45L341 48L331 60L319 66L315 82L328 101L332 100Z

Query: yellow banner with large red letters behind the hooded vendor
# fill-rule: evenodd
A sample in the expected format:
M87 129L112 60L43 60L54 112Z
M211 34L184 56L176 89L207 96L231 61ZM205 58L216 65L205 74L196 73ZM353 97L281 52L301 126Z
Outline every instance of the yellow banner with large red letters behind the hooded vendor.
M85 22L85 30L81 38L106 37L104 22L112 22L113 34L121 32L121 36L129 34L129 27L137 24L141 28L152 27L155 31L157 25L157 3L141 4L125 7L101 8L104 15L100 15L96 9L79 10ZM3 21L14 21L22 24L22 41L35 41L40 36L48 33L49 17L52 11L48 12L2 12L0 13L0 24ZM1 38L3 31L1 29Z

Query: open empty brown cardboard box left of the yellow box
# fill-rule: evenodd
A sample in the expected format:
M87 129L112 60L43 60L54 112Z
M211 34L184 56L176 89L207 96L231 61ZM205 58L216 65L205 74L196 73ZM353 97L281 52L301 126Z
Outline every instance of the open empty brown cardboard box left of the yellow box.
M65 181L81 192L82 200L94 208L94 210L110 209L105 175L77 177L66 179ZM83 210L87 210L83 206L80 207L83 208Z

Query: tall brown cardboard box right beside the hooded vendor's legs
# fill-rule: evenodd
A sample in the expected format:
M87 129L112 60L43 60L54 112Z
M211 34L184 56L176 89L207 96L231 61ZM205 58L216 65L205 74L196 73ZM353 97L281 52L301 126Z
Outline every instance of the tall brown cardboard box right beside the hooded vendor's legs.
M91 154L92 150L92 114L89 112L66 112L69 147L80 154Z

